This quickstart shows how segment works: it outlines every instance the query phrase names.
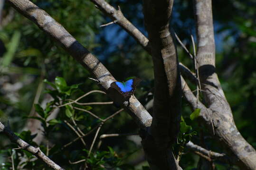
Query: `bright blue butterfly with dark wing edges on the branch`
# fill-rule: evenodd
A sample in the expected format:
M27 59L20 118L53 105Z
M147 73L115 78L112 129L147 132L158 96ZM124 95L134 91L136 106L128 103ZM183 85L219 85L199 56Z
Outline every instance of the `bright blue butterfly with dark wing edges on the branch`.
M116 89L119 93L123 95L125 99L129 99L133 95L136 86L141 82L139 78L129 79L125 82L113 82L110 87Z

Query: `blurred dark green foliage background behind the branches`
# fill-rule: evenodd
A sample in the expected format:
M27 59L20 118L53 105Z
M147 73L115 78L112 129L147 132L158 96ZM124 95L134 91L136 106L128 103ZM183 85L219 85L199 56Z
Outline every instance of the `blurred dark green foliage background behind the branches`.
M136 90L136 96L144 105L152 99L151 56L118 25L100 27L111 20L95 8L93 3L89 0L32 0L32 2L46 10L81 44L92 51L117 80L122 81L129 76L141 78L142 83ZM108 2L115 8L120 6L124 16L143 34L146 34L143 26L142 1L108 0ZM4 3L4 0L1 3ZM256 129L256 114L254 114L256 110L256 2L254 0L213 0L212 3L217 73L233 110L237 128L242 136L256 148L256 133L254 133ZM41 104L49 96L45 91L51 87L43 83L44 79L54 82L57 76L61 76L68 86L79 84L74 95L70 96L73 100L89 91L100 90L94 81L87 78L90 74L85 68L35 24L21 16L8 3L4 3L4 7L0 10L0 120L5 122L9 120L14 132L21 133L24 130L28 122L25 117L33 113L33 104ZM191 0L175 0L171 26L192 52L190 34L196 37L196 33ZM193 70L193 63L187 53L179 44L177 48L180 61ZM110 99L103 94L91 94L83 99L83 102L107 101ZM200 124L190 119L190 113L193 110L190 110L185 101L182 107L184 121L197 132L191 140L209 150L225 152L224 148L221 148ZM113 105L94 105L90 110L105 118L113 114L117 108ZM65 110L60 110L57 119L60 119L62 113L65 114ZM94 119L82 121L84 130L93 127L94 121ZM51 137L46 137L40 147L45 147L47 142L61 146L76 138L70 130L67 134L67 127L64 125L56 125L54 128L55 132ZM137 132L136 124L123 111L106 122L99 135ZM28 131L23 132L23 136L26 139L31 137ZM91 143L93 137L94 135L87 136L85 140ZM16 146L9 145L9 140L1 134L0 139L0 163L8 164L8 156L13 151L6 149ZM87 151L81 149L83 148L81 141L75 144L67 147L63 151L64 154L58 153L52 158L67 169L72 166L76 169L67 160L72 160L71 157L74 155L78 158L77 155L83 155ZM109 160L116 163L117 170L130 170L134 167L142 169L142 165L147 164L143 159L140 139L136 136L106 138L101 147L93 152L96 155L96 162L97 156L103 157L109 154ZM107 153L100 154L100 152ZM184 152L187 153L186 148ZM193 170L196 169L198 160L198 156L188 152L182 155L180 165L184 170ZM109 162L108 164L111 164ZM131 166L124 166L126 163ZM40 161L38 164L40 167L45 167ZM229 165L216 162L216 167L218 170L225 170ZM4 166L2 169L4 170Z

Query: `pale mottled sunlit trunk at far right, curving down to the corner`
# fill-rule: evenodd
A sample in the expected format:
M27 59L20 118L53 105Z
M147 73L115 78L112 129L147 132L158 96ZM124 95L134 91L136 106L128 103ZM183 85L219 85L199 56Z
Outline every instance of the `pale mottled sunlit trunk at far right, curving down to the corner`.
M194 9L197 24L198 52L196 60L199 64L199 78L204 98L211 110L209 116L212 119L211 123L213 123L215 134L237 156L243 170L255 170L256 151L237 130L232 111L215 71L211 0L194 0ZM208 118L204 119L207 121Z

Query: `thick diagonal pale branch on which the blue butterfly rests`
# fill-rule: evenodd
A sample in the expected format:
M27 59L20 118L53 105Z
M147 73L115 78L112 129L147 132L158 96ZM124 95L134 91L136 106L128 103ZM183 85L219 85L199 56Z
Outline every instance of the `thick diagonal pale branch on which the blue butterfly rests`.
M37 24L47 35L50 35L55 41L60 43L63 49L90 71L90 73L100 81L99 84L104 90L107 91L110 84L115 81L114 77L104 65L92 53L85 49L85 47L77 42L63 26L29 0L7 0L7 2L22 15ZM111 95L109 91L107 91L107 93ZM140 127L149 127L152 121L151 115L135 97L132 96L129 102L130 104L126 108L129 110L129 114L136 120Z

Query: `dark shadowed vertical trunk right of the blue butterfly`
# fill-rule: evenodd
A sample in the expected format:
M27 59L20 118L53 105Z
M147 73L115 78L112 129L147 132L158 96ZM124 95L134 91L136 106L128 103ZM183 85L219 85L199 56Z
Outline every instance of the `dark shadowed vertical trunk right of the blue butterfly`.
M169 31L172 0L143 1L145 27L154 65L152 136L142 136L152 170L178 170L171 146L180 128L181 84L175 44Z

